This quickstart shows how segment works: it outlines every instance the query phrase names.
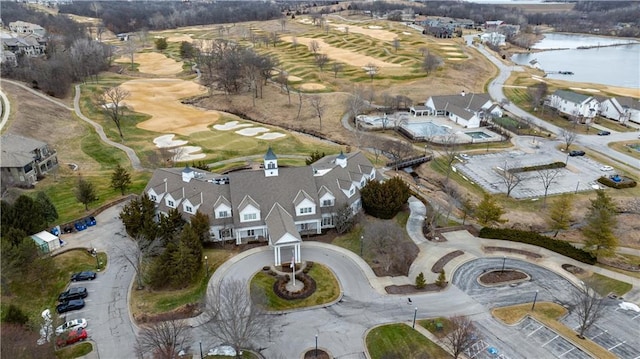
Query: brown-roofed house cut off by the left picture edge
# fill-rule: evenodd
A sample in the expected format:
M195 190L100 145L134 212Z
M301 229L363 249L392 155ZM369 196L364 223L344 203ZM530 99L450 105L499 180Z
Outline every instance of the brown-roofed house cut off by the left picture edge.
M32 187L39 178L58 167L56 151L44 142L6 134L0 138L0 145L3 186Z

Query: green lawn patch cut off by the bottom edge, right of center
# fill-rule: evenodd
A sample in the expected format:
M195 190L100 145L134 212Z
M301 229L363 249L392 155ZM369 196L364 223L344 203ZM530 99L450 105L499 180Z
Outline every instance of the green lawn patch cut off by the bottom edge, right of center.
M452 357L437 344L405 324L376 327L367 334L366 343L372 359Z

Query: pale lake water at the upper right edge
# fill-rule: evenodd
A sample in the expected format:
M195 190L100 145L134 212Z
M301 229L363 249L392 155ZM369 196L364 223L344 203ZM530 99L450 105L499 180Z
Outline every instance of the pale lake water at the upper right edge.
M625 45L578 49L580 46L611 44ZM511 60L530 66L529 62L535 59L546 72L573 72L573 75L549 73L547 77L553 79L640 88L640 42L637 40L552 33L546 34L532 48L567 50L516 54Z

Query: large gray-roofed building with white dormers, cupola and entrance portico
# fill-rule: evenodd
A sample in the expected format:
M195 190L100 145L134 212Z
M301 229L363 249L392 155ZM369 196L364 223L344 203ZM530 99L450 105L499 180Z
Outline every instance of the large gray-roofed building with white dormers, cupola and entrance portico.
M223 175L189 167L158 169L144 193L159 215L177 209L189 220L198 211L206 213L214 241L267 241L280 265L283 253L289 260L289 251L300 262L304 235L335 228L338 211L359 212L360 189L377 179L361 152L326 156L310 166L279 167L269 148L259 170Z

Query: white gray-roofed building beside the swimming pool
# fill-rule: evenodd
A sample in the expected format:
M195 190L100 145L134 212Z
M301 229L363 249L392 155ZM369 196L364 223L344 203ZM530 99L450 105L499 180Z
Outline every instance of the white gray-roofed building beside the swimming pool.
M480 121L501 117L502 109L486 93L464 91L459 95L432 96L425 103L428 115L446 116L466 128L480 127Z

